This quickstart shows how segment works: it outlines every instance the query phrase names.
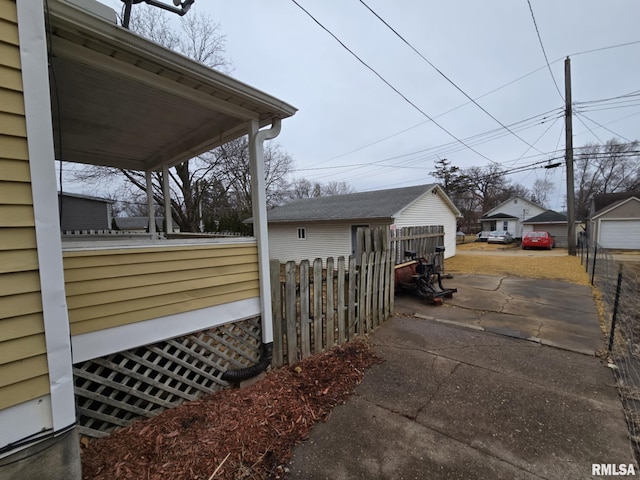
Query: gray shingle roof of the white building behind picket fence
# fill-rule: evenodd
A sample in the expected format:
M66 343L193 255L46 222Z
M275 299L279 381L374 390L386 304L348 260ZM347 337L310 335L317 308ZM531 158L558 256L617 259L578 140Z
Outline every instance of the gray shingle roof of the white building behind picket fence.
M267 212L269 222L391 218L437 184L305 198Z

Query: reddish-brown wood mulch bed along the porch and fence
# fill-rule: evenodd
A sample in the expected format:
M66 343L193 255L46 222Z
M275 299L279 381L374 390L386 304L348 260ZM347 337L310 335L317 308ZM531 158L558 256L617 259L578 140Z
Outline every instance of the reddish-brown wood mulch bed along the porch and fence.
M84 479L266 479L286 476L292 448L379 363L355 341L244 389L224 390L83 442Z

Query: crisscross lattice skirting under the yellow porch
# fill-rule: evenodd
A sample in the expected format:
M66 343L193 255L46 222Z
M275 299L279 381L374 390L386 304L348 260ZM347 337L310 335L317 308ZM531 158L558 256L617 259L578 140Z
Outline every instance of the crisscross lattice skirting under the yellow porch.
M229 384L223 372L260 357L260 318L74 365L78 429L102 437Z

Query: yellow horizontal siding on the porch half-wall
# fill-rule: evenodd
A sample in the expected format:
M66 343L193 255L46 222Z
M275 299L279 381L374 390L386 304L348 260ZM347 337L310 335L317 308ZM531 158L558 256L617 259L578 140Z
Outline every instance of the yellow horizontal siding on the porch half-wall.
M255 243L64 253L71 334L257 297Z

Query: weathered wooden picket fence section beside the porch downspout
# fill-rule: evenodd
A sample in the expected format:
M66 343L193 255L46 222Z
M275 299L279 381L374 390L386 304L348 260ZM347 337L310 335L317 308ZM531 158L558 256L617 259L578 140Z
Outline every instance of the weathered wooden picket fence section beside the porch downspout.
M271 260L273 365L295 364L372 331L393 312L389 251L355 258Z

